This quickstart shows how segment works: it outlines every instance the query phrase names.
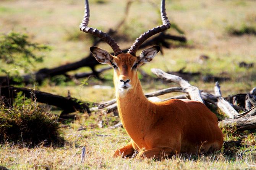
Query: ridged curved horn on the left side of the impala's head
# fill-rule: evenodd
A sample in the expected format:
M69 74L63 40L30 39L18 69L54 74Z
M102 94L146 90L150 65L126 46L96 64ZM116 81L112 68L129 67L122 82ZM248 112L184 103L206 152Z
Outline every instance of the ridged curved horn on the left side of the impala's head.
M97 37L101 38L102 40L104 40L113 49L115 56L123 53L122 50L117 45L117 43L109 35L107 35L107 33L102 32L101 30L97 30L97 29L88 27L89 17L90 17L89 3L88 3L88 0L85 0L84 18L80 25L80 30L83 32L86 32L86 33L90 33L90 34L97 36Z

